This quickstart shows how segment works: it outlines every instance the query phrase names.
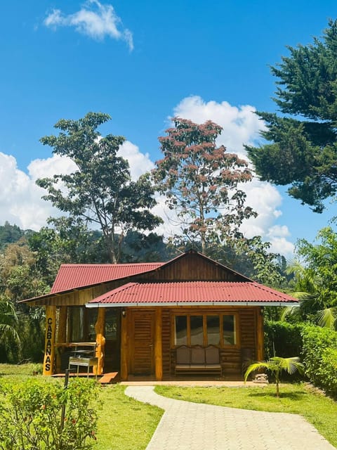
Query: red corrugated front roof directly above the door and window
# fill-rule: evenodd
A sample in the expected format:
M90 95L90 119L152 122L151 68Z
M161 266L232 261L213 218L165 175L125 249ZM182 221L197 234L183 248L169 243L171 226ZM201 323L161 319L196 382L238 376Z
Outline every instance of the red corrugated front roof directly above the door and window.
M298 303L290 295L254 282L186 281L128 283L90 302L88 307L147 304Z

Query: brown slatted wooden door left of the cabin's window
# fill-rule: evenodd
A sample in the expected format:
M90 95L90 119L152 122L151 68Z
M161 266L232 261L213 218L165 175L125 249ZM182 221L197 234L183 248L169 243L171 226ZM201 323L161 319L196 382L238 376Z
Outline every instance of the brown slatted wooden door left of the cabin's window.
M131 373L154 373L154 311L133 311Z

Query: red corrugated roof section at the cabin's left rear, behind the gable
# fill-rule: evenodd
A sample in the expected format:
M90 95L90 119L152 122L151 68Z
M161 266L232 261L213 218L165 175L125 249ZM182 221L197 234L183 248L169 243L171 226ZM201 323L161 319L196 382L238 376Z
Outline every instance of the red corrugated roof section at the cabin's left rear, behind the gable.
M133 264L62 264L55 278L51 294L84 286L118 280L126 276L143 274L162 266L163 262Z

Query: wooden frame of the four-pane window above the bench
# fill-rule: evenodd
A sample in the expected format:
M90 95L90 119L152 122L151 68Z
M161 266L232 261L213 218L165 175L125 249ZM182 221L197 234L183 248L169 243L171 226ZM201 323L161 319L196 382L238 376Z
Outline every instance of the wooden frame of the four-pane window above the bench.
M187 317L187 343L186 344L176 344L176 316L186 316ZM196 345L191 345L191 328L190 328L190 317L191 316L202 316L203 323L203 343L202 347L207 347L208 345L214 345L219 348L238 348L239 347L239 314L237 312L231 311L175 311L172 314L172 333L171 333L171 347L177 348L181 345L186 345L187 347L194 347ZM207 342L207 316L218 316L219 317L219 332L220 332L220 343L209 344ZM234 344L225 344L223 340L223 316L232 316L234 318Z

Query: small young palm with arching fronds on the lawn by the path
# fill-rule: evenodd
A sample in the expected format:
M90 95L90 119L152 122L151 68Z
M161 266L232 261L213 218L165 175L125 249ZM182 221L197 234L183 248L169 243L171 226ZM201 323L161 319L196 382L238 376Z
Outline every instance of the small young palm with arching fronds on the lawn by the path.
M280 375L283 371L289 374L293 374L296 371L299 373L304 373L304 366L300 362L298 356L292 356L291 358L282 358L281 356L272 356L268 361L257 361L247 368L244 374L244 383L246 383L247 378L252 372L260 371L265 369L271 372L275 376L276 383L276 397L279 397L279 380Z

